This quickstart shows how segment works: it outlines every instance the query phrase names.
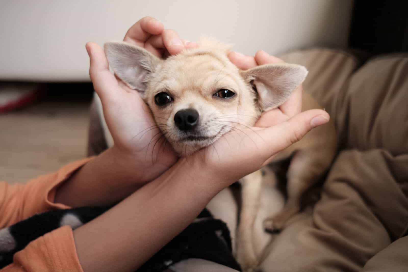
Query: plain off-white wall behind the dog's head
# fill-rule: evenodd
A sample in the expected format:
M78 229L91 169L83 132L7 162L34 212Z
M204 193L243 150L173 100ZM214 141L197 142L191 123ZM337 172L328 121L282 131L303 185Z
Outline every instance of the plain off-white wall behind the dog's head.
M84 44L120 40L146 15L183 38L213 34L246 54L346 46L352 6L353 0L1 0L0 79L86 81Z

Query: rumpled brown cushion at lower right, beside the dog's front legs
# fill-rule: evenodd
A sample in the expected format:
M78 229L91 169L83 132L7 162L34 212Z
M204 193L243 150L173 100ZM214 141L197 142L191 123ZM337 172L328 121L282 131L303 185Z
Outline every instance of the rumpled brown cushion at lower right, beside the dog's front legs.
M408 180L404 165L408 154L341 151L321 200L290 219L265 252L262 271L361 271L406 230L408 199L397 182Z

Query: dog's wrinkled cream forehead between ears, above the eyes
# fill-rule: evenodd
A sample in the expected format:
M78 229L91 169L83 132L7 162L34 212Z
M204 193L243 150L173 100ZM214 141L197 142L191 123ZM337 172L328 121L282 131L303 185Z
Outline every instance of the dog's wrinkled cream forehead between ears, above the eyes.
M156 88L215 88L235 84L239 80L239 70L226 56L190 52L164 61L153 80Z

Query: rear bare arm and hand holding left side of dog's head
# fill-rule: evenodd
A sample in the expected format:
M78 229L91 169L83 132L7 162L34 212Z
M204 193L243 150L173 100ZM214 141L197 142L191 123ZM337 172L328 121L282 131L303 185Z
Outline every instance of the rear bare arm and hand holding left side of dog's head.
M157 57L197 46L180 39L176 31L164 29L161 22L151 17L142 18L131 26L124 41L144 47ZM151 139L160 131L154 127L149 107L137 93L109 71L105 72L110 80L104 84L109 84L109 88L113 86L116 92L107 96L103 91L106 88L101 85L95 85L95 90L102 99L105 119L115 145L59 186L55 202L73 207L118 202L157 178L177 159L170 145L155 148L150 145Z

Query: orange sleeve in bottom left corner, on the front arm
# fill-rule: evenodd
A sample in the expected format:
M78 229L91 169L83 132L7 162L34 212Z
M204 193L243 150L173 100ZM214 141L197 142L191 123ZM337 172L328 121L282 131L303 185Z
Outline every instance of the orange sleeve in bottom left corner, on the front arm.
M83 272L73 233L63 226L35 239L14 254L13 263L0 272Z

